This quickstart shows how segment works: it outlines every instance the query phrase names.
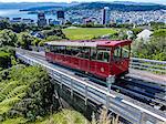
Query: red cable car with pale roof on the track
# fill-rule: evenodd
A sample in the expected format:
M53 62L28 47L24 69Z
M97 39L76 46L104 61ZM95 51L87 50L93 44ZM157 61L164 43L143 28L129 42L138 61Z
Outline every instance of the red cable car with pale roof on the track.
M128 73L129 40L52 41L45 43L46 60L100 79Z

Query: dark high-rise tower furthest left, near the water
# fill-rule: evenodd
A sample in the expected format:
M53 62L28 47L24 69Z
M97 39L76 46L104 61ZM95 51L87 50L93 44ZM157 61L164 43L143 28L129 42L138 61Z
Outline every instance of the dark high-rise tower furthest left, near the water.
M39 27L44 27L46 25L46 19L44 12L39 12L38 13L38 25Z

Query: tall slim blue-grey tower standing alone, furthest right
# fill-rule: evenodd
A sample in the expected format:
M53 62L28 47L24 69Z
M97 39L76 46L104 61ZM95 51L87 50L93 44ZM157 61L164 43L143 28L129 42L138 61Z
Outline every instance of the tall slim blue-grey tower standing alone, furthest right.
M102 10L102 24L107 24L110 22L110 17L108 17L108 7L104 7Z

